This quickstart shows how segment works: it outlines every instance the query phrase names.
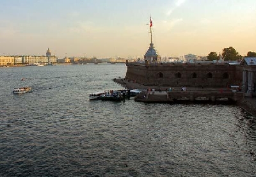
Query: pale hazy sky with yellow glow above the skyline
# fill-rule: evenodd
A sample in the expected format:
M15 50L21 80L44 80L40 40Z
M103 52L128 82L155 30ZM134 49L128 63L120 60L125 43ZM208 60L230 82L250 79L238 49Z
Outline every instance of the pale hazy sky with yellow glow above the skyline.
M256 52L255 0L0 0L0 55L139 58Z

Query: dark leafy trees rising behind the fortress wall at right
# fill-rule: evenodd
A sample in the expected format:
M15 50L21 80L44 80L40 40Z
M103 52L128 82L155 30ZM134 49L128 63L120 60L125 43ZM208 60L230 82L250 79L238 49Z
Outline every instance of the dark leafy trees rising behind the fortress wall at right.
M256 52L248 52L247 56L244 57L256 57ZM234 49L233 47L224 48L222 54L217 54L216 52L210 52L207 56L209 60L223 59L226 61L238 61L243 59L243 57Z

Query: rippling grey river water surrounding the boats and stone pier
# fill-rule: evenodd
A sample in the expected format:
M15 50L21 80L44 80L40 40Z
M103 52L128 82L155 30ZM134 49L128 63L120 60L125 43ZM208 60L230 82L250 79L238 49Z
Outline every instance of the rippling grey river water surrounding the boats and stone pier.
M255 176L256 121L236 105L88 99L126 69L0 68L0 176Z

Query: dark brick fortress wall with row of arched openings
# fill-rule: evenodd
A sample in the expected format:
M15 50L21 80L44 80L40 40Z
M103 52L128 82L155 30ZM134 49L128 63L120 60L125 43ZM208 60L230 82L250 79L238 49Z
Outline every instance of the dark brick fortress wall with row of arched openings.
M228 64L127 64L126 77L145 86L227 87L241 84L243 69Z

